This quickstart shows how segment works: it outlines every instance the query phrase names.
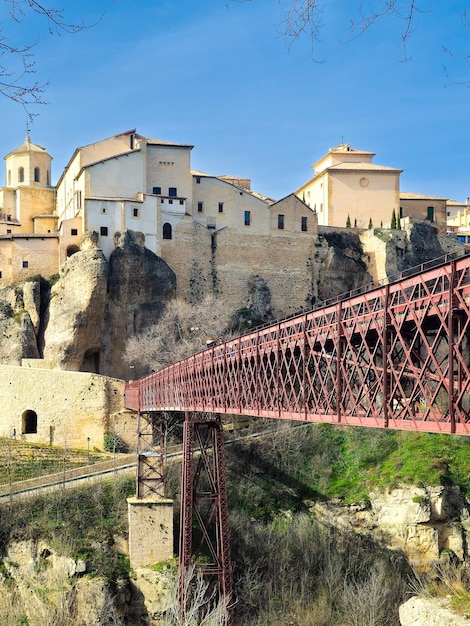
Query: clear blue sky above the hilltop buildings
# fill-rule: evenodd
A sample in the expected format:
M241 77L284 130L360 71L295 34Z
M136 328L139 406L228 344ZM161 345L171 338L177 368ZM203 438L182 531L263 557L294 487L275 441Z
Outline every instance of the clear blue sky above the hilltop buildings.
M313 52L309 37L289 49L280 35L288 0L46 3L72 6L67 17L83 14L90 24L106 10L93 28L57 37L37 19L12 22L0 3L2 34L37 42L36 78L49 83L48 104L31 107L31 139L54 157L53 182L76 147L136 128L194 145L194 169L251 178L276 199L342 142L403 169L402 190L470 196L470 89L456 84L470 81L458 58L470 53L465 0L418 2L424 11L407 62L396 19L347 43L359 0L325 0ZM0 113L6 155L23 142L26 115L5 98Z

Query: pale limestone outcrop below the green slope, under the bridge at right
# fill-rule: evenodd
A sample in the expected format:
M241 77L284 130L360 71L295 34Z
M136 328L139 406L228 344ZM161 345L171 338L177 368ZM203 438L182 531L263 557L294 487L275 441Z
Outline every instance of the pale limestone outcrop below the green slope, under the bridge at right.
M370 534L403 551L417 570L429 569L449 554L460 561L468 558L470 504L459 487L407 487L369 498L370 505L316 503L313 510L329 526Z

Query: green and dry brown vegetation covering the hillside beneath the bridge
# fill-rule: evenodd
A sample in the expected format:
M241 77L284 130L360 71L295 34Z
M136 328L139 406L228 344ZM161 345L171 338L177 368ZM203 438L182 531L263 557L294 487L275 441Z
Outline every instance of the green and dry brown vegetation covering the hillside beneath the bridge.
M450 482L468 492L470 440L258 422L257 434L263 429L226 447L235 624L398 626L398 606L413 579L403 556L368 537L319 526L309 504L318 498L363 502L371 489L403 483ZM179 477L178 464L169 466L176 532ZM87 576L126 580L128 561L114 543L128 532L126 497L133 490L132 479L115 479L92 490L3 505L1 545L42 539L60 554L83 559Z

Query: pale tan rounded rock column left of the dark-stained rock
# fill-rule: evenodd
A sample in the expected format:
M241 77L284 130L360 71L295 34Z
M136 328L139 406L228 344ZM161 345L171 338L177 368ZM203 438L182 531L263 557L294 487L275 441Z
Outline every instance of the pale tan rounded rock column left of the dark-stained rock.
M103 341L108 264L97 248L69 257L52 287L44 359L52 367L96 371Z

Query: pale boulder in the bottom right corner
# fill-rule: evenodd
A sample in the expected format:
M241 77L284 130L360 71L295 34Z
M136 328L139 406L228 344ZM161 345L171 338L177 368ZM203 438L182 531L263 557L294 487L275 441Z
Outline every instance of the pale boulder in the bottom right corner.
M468 619L454 613L440 598L410 598L399 609L401 626L467 626Z

